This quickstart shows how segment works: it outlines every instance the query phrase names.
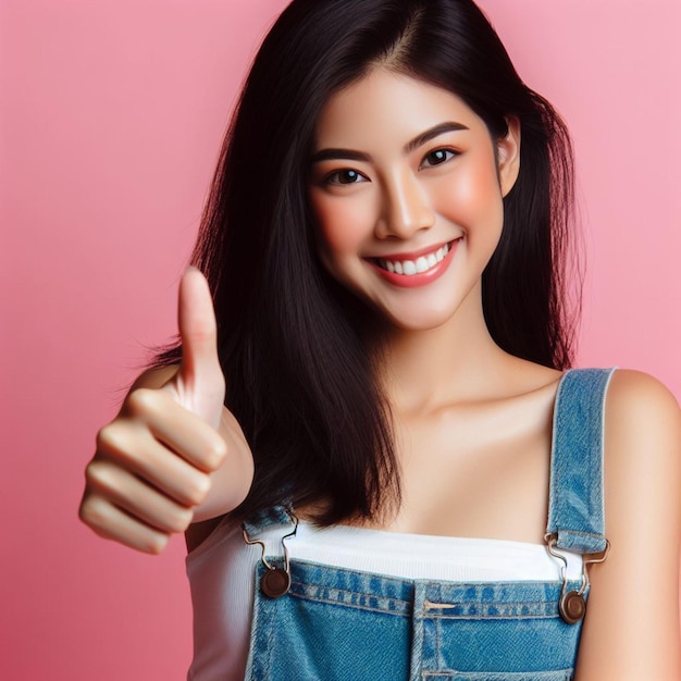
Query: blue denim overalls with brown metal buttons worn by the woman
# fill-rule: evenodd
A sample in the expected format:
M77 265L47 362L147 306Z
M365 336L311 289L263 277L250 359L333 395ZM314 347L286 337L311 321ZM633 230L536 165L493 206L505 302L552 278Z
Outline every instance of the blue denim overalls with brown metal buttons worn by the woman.
M586 562L605 557L603 428L611 373L571 370L558 387L546 529L556 581L462 584L289 562L283 538L282 554L263 556L257 568L246 679L571 679L589 581L585 571L575 582L562 577L560 549ZM284 537L290 523L275 508L245 523L245 536L282 524Z

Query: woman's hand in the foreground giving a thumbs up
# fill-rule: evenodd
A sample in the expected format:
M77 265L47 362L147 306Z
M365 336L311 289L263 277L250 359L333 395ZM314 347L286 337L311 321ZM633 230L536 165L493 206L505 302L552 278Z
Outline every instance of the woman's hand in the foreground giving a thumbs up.
M171 534L234 509L252 481L252 456L225 409L225 382L208 283L179 284L183 357L143 374L97 436L79 516L97 534L160 553Z

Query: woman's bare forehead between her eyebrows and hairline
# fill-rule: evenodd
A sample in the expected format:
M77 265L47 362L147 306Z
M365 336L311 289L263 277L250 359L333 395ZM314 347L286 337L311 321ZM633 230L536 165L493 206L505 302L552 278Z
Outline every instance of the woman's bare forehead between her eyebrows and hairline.
M381 139L405 140L443 122L486 132L482 119L453 92L375 69L331 96L317 122L315 146L369 147Z

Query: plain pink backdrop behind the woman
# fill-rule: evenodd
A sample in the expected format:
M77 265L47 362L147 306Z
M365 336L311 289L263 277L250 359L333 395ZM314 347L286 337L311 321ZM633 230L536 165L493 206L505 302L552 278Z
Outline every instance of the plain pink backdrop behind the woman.
M182 540L137 555L76 509L96 430L174 332L228 111L284 0L0 2L0 678L182 679ZM575 139L579 363L681 397L681 3L482 4Z

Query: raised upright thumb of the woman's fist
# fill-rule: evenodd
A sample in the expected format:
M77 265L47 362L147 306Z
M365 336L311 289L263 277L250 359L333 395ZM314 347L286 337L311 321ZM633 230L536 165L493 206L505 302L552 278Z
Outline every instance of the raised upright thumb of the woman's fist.
M179 282L177 325L182 361L166 387L183 407L218 428L225 395L218 324L208 282L196 268L188 268Z

